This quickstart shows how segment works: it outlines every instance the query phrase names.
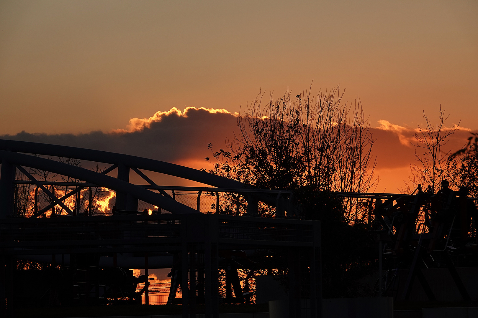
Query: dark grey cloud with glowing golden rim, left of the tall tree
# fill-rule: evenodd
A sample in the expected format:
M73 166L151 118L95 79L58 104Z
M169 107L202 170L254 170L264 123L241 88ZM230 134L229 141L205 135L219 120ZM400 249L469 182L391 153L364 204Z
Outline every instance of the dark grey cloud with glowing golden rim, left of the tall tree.
M172 108L150 118L132 118L126 129L81 134L18 133L0 138L60 144L148 157L167 162L204 160L207 144L224 146L234 137L237 114L220 109ZM207 166L205 164L205 166Z

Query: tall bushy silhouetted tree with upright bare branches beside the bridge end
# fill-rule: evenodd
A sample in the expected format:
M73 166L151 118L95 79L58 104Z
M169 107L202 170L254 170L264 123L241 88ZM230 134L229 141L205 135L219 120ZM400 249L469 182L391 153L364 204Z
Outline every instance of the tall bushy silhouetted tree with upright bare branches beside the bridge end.
M322 221L325 297L359 296L357 281L374 266L362 253L374 244L363 222L368 205L330 192L366 192L377 184L374 139L361 103L343 103L338 86L315 96L310 89L295 97L271 94L265 106L263 95L238 117L239 133L228 148L206 157L214 160L209 172L252 187L292 190L299 204L295 217ZM260 212L274 215L265 204Z

